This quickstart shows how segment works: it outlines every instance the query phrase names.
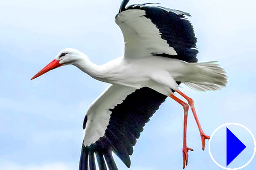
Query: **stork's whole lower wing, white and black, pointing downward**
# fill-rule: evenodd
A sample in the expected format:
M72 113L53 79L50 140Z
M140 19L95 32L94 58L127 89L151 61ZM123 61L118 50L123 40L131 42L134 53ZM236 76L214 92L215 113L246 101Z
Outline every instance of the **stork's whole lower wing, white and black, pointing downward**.
M143 126L167 96L150 88L110 85L90 106L84 121L85 138L79 170L117 170L114 152L127 167Z

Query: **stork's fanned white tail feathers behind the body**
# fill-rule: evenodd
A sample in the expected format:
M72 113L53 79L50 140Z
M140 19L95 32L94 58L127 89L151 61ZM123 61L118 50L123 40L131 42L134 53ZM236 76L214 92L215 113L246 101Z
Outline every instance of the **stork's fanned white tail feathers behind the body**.
M188 63L194 70L185 85L197 91L214 91L226 87L226 71L217 61L205 63Z

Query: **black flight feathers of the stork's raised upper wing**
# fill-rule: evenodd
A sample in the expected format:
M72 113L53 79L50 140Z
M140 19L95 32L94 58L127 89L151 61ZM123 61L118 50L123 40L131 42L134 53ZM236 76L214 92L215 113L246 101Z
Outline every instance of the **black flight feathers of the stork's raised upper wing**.
M146 10L145 17L149 18L162 33L161 38L167 40L169 46L173 47L178 54L176 56L167 54L154 55L176 58L186 62L197 62L196 55L198 50L192 49L196 48L197 38L195 37L193 26L185 19L184 15L167 12L158 7L144 6L142 9Z

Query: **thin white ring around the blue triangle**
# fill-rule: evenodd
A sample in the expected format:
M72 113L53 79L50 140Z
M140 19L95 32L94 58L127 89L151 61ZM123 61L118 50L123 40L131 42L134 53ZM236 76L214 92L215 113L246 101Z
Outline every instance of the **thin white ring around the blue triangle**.
M239 168L226 168L226 167L223 167L223 166L221 166L220 164L218 164L218 163L215 161L215 159L213 159L213 157L212 157L212 153L211 153L211 150L210 150L210 143L211 143L212 137L213 137L214 133L215 133L217 130L219 130L220 128L222 128L223 126L226 126L226 125L238 125L238 126L241 126L241 127L245 128L245 129L251 134L252 139L253 139L253 141L254 141L254 152L253 152L253 154L252 154L251 159L250 159L246 164L244 164L243 166L241 166L241 167L239 167ZM241 124L239 124L239 123L226 123L226 124L223 124L223 125L219 126L217 129L215 129L215 131L213 131L213 133L212 133L212 135L211 135L211 137L210 137L210 140L209 140L208 148L209 148L208 150L209 150L210 157L212 158L213 162L215 162L215 164L217 164L220 168L228 169L228 170L237 170L237 169L244 168L245 166L247 166L247 165L252 161L252 159L253 159L253 157L254 157L254 155L255 155L255 152L256 152L256 141L255 141L255 138L254 138L252 132L251 132L247 127L245 127L244 125L241 125Z

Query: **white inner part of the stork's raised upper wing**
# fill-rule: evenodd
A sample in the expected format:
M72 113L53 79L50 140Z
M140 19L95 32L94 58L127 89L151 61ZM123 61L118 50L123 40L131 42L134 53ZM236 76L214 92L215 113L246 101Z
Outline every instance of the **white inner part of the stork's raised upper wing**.
M159 29L146 17L145 10L129 9L116 16L116 24L124 36L125 57L146 57L151 53L177 55L173 47L161 38Z

